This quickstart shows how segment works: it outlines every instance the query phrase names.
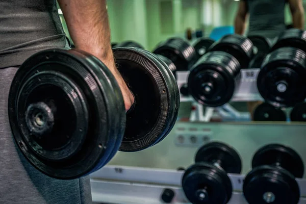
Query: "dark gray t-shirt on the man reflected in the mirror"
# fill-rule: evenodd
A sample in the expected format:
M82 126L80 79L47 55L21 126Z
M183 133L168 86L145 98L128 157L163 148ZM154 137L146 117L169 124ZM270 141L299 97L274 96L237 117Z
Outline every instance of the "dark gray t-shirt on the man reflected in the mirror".
M260 35L273 39L286 29L286 0L243 0L249 13L247 35Z

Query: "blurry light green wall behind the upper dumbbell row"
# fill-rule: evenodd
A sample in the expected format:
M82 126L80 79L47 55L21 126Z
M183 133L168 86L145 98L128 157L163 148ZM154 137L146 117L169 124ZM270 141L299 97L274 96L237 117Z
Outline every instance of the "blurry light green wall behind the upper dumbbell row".
M113 42L134 40L152 50L172 36L202 29L209 35L214 27L233 25L239 2L233 0L108 0ZM291 23L288 6L285 21ZM64 30L67 26L61 15Z

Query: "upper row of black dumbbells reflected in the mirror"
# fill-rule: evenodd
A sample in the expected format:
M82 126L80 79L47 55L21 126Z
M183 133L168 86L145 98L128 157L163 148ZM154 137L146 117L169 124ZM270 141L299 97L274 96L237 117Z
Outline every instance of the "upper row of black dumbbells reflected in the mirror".
M240 70L261 68L257 85L265 101L274 107L293 107L306 97L305 33L286 30L273 46L261 36L226 35L217 42L202 38L193 45L170 38L159 43L153 53L172 62L174 74L175 70L190 70L182 89L187 88L187 94L203 105L228 103L240 84ZM142 47L135 42L124 43L115 47Z

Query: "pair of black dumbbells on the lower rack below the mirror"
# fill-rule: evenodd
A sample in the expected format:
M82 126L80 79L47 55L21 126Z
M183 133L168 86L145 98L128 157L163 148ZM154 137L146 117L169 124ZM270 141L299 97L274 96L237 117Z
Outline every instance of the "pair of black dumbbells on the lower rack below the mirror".
M195 164L183 174L182 187L194 204L225 204L233 186L228 173L240 174L238 152L221 142L200 147ZM243 194L250 204L297 204L300 189L296 178L304 173L304 164L295 150L281 144L268 144L253 156L252 170L243 181Z

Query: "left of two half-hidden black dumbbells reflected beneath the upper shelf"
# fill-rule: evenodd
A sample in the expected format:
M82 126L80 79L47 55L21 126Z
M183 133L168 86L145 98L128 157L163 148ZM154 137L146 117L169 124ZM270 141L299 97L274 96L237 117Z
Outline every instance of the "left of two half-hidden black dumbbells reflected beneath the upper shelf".
M254 110L254 121L286 121L285 112L268 103L263 103Z

